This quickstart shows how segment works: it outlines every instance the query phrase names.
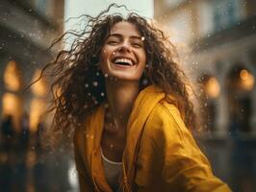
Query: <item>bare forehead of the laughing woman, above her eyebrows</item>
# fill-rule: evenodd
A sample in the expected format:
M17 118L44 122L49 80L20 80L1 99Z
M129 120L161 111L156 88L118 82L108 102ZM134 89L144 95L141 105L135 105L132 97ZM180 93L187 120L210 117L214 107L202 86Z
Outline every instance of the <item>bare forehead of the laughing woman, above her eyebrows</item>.
M116 23L112 28L110 35L119 34L122 36L141 36L136 25L127 21Z

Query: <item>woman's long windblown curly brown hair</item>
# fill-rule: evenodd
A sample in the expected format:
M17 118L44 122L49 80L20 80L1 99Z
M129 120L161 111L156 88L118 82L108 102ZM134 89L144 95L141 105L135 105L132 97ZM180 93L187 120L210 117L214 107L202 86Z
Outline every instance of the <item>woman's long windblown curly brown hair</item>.
M146 67L141 78L141 89L156 84L166 92L166 99L174 102L181 110L182 118L190 130L196 128L195 113L189 98L188 79L179 68L175 47L163 31L149 23L135 12L122 16L120 13L108 14L115 4L96 17L83 15L87 25L82 33L67 32L76 36L70 50L59 52L56 60L48 63L55 80L52 84L52 109L54 110L53 129L64 136L71 137L74 129L81 127L85 117L106 100L105 78L99 67L100 52L110 33L118 22L134 24L141 36L146 52ZM146 80L146 82L145 82ZM174 95L171 101L168 95Z

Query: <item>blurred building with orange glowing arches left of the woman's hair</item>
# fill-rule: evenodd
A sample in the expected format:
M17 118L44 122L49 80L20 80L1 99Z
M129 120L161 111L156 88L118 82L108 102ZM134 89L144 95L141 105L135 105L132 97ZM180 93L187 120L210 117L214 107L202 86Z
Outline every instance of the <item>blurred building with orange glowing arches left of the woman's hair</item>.
M36 129L45 109L46 81L24 88L52 59L47 48L63 33L64 0L0 1L0 113L13 116L18 132L23 116Z

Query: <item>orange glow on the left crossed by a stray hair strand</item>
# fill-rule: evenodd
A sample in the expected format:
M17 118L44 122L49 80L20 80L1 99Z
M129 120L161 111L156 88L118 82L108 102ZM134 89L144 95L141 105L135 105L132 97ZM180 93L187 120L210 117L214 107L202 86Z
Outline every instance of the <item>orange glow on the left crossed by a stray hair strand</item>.
M40 77L40 71L37 70L34 77L33 82L37 81ZM43 78L40 78L37 83L31 86L32 92L39 97L44 97L47 94L47 83Z

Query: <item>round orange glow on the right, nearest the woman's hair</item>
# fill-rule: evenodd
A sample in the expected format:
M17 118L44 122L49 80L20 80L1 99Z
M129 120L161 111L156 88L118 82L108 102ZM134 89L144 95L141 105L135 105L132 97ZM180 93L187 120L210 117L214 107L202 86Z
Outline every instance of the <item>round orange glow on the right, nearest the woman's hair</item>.
M220 86L216 78L210 78L205 84L205 92L211 98L217 98L220 93Z

